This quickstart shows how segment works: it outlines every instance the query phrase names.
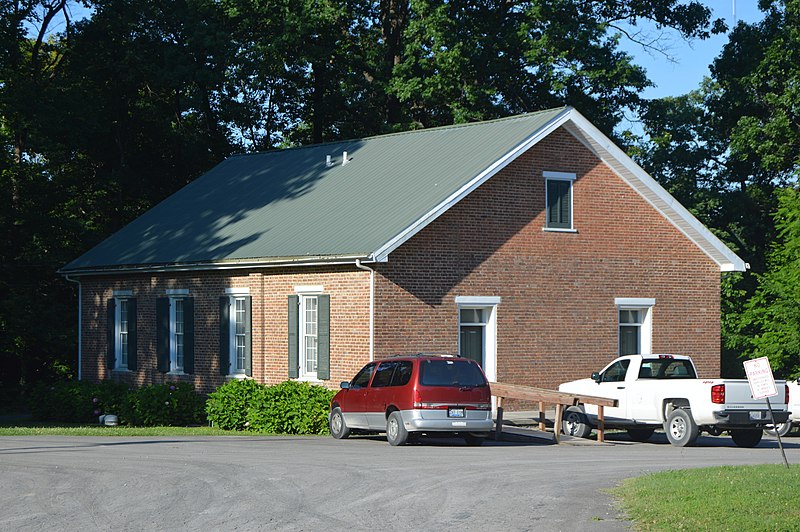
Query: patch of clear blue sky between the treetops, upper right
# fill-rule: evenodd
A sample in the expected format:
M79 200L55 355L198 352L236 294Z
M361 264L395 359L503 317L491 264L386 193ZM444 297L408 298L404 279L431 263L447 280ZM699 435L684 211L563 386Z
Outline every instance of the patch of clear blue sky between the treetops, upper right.
M753 23L764 18L758 10L757 0L707 0L704 3L712 9L715 19L724 18L728 27L733 28L734 2L737 21ZM651 36L656 34L652 28L640 29ZM714 35L705 41L689 44L679 36L667 34L665 42L675 62L670 62L662 54L649 53L630 41L622 43L623 48L636 58L636 64L647 69L648 77L656 84L644 92L645 98L679 96L698 88L703 77L710 74L708 66L722 51L728 36Z

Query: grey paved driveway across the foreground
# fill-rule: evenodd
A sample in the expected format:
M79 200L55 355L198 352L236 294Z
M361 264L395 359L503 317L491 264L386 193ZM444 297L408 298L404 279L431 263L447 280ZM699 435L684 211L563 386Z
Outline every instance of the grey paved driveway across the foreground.
M624 530L622 478L781 463L774 440L654 440L0 437L0 530Z

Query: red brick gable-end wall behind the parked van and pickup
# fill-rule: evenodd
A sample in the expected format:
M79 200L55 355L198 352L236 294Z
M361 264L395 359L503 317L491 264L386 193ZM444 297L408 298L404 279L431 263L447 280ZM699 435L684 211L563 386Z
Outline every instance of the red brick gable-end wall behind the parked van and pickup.
M577 232L545 232L543 171L574 172ZM653 352L719 374L718 266L559 130L376 265L375 356L458 350L456 296L500 296L498 380L553 388L617 353L614 299L655 298Z

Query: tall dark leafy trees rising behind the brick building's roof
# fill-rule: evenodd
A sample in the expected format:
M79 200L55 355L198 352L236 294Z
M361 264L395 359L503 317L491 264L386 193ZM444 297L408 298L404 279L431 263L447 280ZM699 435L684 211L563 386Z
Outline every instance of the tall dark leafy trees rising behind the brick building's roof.
M800 43L797 1L761 5L703 87L649 102L621 43L643 21L724 31L697 0L2 2L0 378L74 373L57 269L234 152L568 104L766 265L797 170ZM755 290L739 283L734 303Z

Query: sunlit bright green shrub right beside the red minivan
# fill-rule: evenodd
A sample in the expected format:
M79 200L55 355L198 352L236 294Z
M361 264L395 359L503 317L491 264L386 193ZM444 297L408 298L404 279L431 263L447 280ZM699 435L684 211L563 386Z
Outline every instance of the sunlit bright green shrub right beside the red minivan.
M262 387L247 409L249 429L271 434L327 434L334 392L305 382Z

